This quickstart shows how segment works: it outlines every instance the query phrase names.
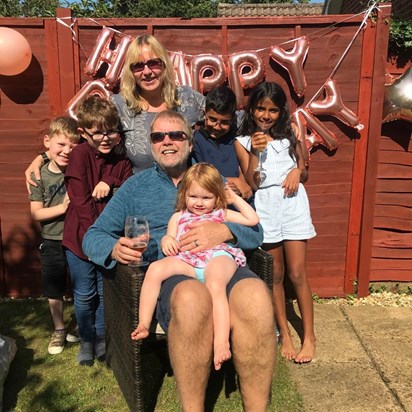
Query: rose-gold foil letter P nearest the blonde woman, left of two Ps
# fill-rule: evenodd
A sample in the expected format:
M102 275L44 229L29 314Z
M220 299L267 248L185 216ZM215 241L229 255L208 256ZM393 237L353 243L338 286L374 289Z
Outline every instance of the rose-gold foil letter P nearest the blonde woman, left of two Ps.
M198 54L193 57L190 67L193 88L200 93L212 90L226 81L225 62L219 56Z

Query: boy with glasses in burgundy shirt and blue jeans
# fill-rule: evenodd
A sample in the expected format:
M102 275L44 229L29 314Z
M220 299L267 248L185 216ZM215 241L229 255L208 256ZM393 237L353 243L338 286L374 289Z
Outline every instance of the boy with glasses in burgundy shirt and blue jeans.
M66 212L63 246L72 278L74 311L79 325L80 365L106 358L103 284L99 266L82 250L83 236L107 202L129 176L132 167L120 143L120 118L113 103L87 98L77 113L85 142L75 147L65 173L70 204Z

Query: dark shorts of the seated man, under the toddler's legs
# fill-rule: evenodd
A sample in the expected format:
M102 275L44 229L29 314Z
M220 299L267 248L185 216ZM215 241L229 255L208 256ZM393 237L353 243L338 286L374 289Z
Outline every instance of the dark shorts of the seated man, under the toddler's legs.
M242 279L260 279L258 275L253 273L248 266L239 266L230 279L226 286L226 295L229 296L233 286ZM156 307L156 320L162 327L162 329L167 332L169 322L170 322L170 297L172 295L173 289L180 283L186 280L195 281L191 276L186 275L175 275L166 279L162 283L160 289L159 299L157 301Z

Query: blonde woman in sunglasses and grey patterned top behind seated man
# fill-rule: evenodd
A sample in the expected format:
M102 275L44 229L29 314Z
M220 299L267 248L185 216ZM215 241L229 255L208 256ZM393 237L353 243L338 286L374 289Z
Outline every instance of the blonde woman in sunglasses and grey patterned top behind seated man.
M134 172L152 166L149 130L156 113L172 109L190 124L203 119L202 94L189 86L177 86L169 54L151 35L141 35L126 54L120 93L112 97L126 132L127 156Z

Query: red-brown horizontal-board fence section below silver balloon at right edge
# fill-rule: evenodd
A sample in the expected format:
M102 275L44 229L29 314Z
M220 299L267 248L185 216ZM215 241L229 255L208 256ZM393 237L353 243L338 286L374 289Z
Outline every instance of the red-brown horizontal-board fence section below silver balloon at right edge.
M404 121L384 124L379 148L370 281L412 280L411 180L412 124Z

